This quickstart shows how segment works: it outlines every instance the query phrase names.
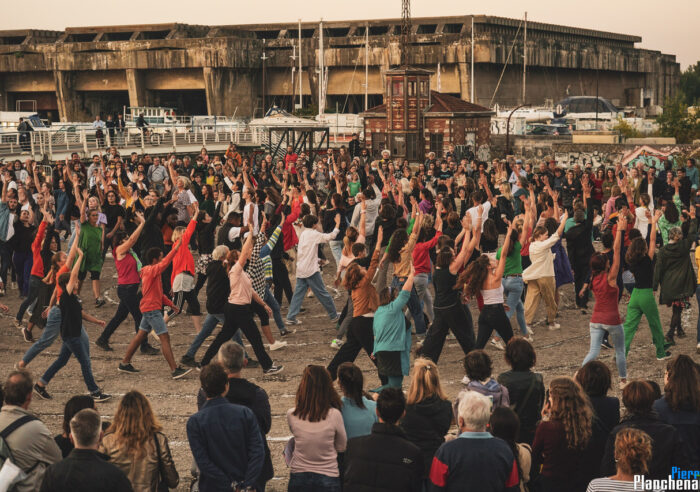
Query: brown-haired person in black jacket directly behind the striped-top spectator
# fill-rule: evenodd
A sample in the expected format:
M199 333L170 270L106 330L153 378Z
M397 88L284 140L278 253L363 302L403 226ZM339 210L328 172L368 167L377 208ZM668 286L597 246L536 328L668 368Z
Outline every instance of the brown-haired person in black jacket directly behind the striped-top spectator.
M634 427L643 430L651 437L651 462L647 479L667 479L674 466L697 466L690 459L688 448L681 440L678 431L664 423L652 410L654 404L654 389L646 381L631 381L622 390L622 403L627 409L627 416L616 426L605 444L605 452L600 465L602 476L615 473L615 439L617 434L625 429Z

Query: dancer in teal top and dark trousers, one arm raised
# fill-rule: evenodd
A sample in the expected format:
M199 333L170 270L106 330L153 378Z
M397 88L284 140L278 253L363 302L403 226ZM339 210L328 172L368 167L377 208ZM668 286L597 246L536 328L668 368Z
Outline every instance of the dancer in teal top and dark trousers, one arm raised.
M379 307L374 313L374 356L377 358L377 370L380 376L387 378L387 384L372 390L381 392L384 388L399 388L403 377L408 376L411 364L411 324L406 321L403 310L411 297L415 269L396 298L391 289L384 288L379 294Z

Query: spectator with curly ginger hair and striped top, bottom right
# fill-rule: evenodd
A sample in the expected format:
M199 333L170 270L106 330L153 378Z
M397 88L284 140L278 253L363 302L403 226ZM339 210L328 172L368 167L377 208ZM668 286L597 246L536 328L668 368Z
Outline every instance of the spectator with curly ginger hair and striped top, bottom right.
M615 437L615 475L596 478L588 484L586 492L617 492L635 490L635 476L646 475L652 457L649 434L630 427Z

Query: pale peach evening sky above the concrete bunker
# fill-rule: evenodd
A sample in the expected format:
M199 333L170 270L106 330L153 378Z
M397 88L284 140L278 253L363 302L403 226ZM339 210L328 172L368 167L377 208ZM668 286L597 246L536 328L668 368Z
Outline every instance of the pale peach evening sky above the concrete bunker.
M395 18L400 0L3 0L0 30L121 24L262 24ZM582 8L583 7L583 8ZM699 0L412 0L413 17L498 15L642 37L638 47L676 55L684 70L700 60Z

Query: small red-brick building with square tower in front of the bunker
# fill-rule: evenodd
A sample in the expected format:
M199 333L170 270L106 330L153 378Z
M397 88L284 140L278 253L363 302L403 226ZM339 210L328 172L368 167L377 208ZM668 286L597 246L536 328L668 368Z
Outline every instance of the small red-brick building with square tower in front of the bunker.
M474 151L489 144L493 111L429 90L431 73L413 67L386 72L384 104L362 113L373 156L389 149L394 158L417 162L431 151L443 155L450 144Z

